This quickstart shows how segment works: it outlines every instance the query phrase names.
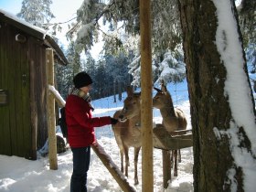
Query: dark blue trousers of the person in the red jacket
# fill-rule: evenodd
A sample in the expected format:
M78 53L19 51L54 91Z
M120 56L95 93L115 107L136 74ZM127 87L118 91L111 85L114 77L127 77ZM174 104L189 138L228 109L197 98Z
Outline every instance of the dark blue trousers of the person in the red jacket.
M91 146L71 148L73 153L73 173L70 192L87 192L87 172L90 165Z

